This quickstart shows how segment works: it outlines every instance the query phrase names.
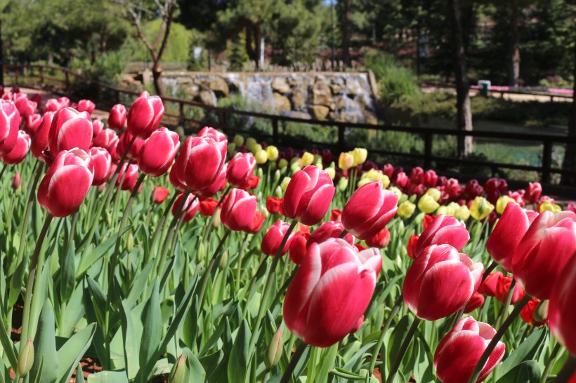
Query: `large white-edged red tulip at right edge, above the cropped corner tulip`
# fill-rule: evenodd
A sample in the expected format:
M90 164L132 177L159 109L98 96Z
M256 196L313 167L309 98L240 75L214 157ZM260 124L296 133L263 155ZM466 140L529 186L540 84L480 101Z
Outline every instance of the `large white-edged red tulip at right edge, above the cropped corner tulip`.
M547 300L554 282L575 255L576 214L546 210L532 222L516 248L512 271L526 293Z

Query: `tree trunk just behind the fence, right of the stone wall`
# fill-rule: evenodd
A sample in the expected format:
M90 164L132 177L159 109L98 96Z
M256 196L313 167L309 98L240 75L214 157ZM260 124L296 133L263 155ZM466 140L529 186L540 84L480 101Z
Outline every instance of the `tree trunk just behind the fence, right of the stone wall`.
M462 39L462 22L458 0L448 0L452 29L452 55L454 60L454 78L456 79L457 128L461 131L472 130L472 109L469 83L466 70L466 55ZM472 137L458 137L458 156L465 157L472 153Z

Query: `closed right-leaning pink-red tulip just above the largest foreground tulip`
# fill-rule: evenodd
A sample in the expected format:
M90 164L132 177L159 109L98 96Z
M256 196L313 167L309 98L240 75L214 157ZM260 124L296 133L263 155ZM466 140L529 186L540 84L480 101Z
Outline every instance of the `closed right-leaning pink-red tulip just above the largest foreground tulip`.
M360 239L375 236L398 210L398 196L382 189L380 181L365 184L354 191L342 210L342 224Z

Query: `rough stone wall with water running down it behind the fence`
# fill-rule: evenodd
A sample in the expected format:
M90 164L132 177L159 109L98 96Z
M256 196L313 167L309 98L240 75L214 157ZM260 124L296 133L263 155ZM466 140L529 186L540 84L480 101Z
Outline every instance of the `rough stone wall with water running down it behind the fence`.
M374 79L369 72L211 73L163 72L172 95L216 105L242 95L263 110L305 119L377 123Z

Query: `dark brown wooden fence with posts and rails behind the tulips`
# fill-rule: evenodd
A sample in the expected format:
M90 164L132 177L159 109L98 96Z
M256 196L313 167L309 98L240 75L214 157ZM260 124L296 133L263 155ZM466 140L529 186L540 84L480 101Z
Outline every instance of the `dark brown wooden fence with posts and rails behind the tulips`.
M116 102L119 102L120 95L131 95L131 96L138 96L140 93L136 90L129 90L124 88L119 88L117 86L111 86L106 83L100 83L99 81L91 81L87 79L82 74L72 71L71 69L65 67L55 67L51 65L6 65L6 68L12 69L14 72L14 79L15 84L18 84L18 74L22 69L39 69L39 74L35 75L34 73L28 74L28 77L38 77L41 81L41 84L44 85L44 80L48 79L51 81L60 81L65 86L65 90L70 89L70 76L74 76L77 79L81 79L83 81L87 81L89 83L93 83L94 85L98 86L99 88L104 88L107 90L111 90L116 94ZM44 70L50 69L53 71L60 71L65 74L65 79L58 79L54 77L48 77L44 75ZM558 97L558 96L554 96ZM565 170L561 168L553 168L552 164L552 149L555 144L565 144L565 145L575 145L576 146L576 137L568 137L563 135L543 135L543 134L516 134L516 133L504 133L504 132L486 132L486 131L478 131L478 130L471 130L471 131L463 131L463 130L451 130L447 128L422 128L422 127L406 127L406 126L391 126L391 125L372 125L369 123L350 123L350 122L341 122L341 121L320 121L320 120L313 120L313 119L302 119L298 117L291 117L291 116L280 116L277 114L268 114L262 112L247 112L237 109L230 109L230 108L222 108L222 107L214 107L211 105L204 105L201 102L192 101L192 100L183 100L180 98L172 98L163 96L162 100L164 102L174 102L178 104L178 114L165 114L166 117L173 117L177 118L181 123L191 122L191 123L202 123L202 121L198 121L196 119L191 119L188 116L185 116L184 113L184 106L192 106L192 107L199 107L204 110L208 110L211 112L216 112L219 118L218 124L213 124L215 128L221 128L223 130L228 130L231 132L240 132L237 128L233 128L228 126L226 121L228 120L229 115L239 115L239 116L251 116L258 119L266 119L270 121L272 125L272 135L263 136L270 138L274 145L281 145L284 143L284 140L279 132L279 122L286 121L286 122L293 122L293 123L305 123L305 124L313 124L315 126L325 126L325 127L336 127L338 130L337 141L335 143L327 143L327 142L314 142L313 140L306 140L303 144L308 145L315 145L317 147L330 147L335 149L336 151L346 151L352 149L354 145L350 145L346 142L346 131L351 129L363 129L363 130L381 130L381 131L395 131L395 132L402 132L402 133L410 133L415 136L421 136L424 139L424 152L423 153L405 153L405 152L395 152L383 149L370 149L371 152L376 154L387 154L393 156L403 156L406 158L413 158L413 159L421 159L424 161L424 167L430 168L432 161L437 162L458 162L464 163L469 165L475 166L487 166L489 167L492 172L497 168L508 168L508 169L516 169L516 170L528 170L528 171L536 171L541 173L540 182L543 184L549 184L551 180L551 175L561 174L563 176L572 176L576 177L576 170ZM432 147L433 147L433 136L434 135L445 135L445 136L452 136L452 137L478 137L478 138L486 138L492 140L515 140L515 141L528 141L528 142L540 142L542 144L542 166L529 166L529 165L518 165L515 163L495 163L490 161L480 161L475 159L456 159L452 157L443 157L443 156L436 156L433 155ZM302 140L298 139L297 137L289 137L290 145L294 145L294 143L301 142Z

